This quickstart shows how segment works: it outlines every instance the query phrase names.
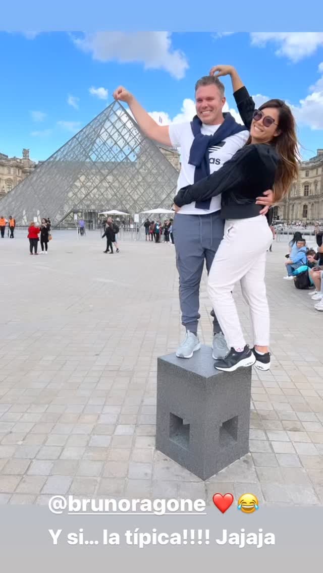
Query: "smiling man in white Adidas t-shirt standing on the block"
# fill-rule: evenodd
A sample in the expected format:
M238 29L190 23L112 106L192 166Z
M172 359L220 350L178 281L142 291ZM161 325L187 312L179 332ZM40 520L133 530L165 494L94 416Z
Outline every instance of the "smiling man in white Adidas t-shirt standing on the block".
M122 86L115 90L114 98L129 105L139 128L148 138L165 146L181 148L181 171L177 190L192 185L219 169L244 146L249 136L246 127L236 123L229 113L223 115L224 85L213 75L204 76L196 83L197 115L192 122L158 125L133 94ZM271 202L264 201L262 204L270 205ZM213 197L209 202L185 205L174 218L172 232L180 276L182 324L186 328L185 339L176 352L178 358L191 358L193 352L200 348L197 337L200 281L204 260L209 272L223 238L224 221L220 217L220 207L221 198ZM227 355L228 348L213 311L211 315L212 356L221 359Z

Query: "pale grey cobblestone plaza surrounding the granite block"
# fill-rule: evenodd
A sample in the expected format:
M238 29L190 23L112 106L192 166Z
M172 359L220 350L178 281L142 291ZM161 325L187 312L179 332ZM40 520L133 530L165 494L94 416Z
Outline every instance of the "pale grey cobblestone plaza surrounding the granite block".
M0 241L0 502L52 494L192 497L250 491L323 504L323 313L268 253L270 372L252 373L250 454L206 482L155 451L157 357L182 336L173 246L54 231L30 259L26 231ZM236 299L247 335L247 307ZM211 344L206 275L200 337ZM247 336L248 337L248 336ZM252 341L250 341L252 342Z

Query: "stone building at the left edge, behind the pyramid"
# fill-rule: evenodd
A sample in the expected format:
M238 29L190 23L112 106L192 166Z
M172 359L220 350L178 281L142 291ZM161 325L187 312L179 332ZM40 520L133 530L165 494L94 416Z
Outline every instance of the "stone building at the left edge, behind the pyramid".
M32 173L36 163L29 159L29 149L22 150L22 158L8 157L0 153L0 197L4 197L11 189Z

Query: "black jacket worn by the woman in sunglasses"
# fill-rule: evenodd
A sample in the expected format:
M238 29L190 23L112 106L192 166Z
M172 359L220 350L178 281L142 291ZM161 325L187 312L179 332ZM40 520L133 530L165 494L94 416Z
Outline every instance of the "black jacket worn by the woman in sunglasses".
M255 104L245 87L234 93L243 123L250 129ZM194 185L178 191L174 203L178 207L192 201L205 201L222 193L221 215L224 219L257 217L262 206L255 199L272 189L279 156L267 143L244 146L221 167Z

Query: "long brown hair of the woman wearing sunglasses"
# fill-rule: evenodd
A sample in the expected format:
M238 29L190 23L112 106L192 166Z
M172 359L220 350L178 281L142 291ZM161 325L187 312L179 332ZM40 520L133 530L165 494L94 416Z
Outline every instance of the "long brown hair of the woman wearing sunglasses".
M295 119L289 106L285 104L285 101L274 99L266 101L260 105L259 109L270 107L277 108L279 113L278 129L280 133L270 142L281 158L274 183L274 201L277 203L287 195L291 183L297 179L301 158L298 152Z

